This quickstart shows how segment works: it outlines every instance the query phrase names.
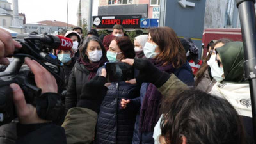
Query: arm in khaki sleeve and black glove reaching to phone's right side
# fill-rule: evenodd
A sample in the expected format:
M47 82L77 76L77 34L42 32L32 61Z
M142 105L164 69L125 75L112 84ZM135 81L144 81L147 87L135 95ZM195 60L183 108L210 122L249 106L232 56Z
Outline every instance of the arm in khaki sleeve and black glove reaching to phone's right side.
M152 83L164 96L178 95L180 92L183 92L183 90L188 89L188 86L180 81L174 74L162 72L147 59L125 59L122 60L122 62L133 65L134 68L140 70L139 76L130 81L126 81L127 83Z

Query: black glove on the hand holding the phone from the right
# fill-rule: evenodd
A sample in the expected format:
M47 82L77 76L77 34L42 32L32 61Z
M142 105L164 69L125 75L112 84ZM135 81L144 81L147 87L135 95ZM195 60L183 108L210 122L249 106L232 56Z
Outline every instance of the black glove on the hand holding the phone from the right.
M156 68L148 59L134 59L134 68L140 70L139 76L136 77L136 82L153 83L157 88L161 87L169 78L170 74L162 72Z

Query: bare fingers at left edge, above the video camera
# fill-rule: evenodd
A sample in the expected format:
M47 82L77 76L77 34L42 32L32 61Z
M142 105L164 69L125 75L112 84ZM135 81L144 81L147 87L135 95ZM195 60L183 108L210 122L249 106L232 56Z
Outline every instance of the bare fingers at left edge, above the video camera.
M13 40L8 31L0 28L0 64L9 64L9 61L4 57L13 54L15 47L21 48L22 45Z

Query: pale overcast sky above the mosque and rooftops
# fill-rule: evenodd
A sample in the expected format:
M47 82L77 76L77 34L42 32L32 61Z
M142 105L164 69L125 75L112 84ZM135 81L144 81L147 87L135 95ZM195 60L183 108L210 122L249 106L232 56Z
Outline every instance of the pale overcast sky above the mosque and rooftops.
M12 3L12 0L7 0ZM57 20L77 25L77 8L79 0L18 0L19 13L25 13L26 23L42 20Z

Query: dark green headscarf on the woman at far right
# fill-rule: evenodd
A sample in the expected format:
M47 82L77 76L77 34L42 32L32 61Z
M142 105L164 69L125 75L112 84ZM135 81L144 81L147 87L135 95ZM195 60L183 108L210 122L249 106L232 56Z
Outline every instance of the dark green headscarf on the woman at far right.
M225 79L223 81L244 81L244 49L242 42L229 42L216 48L221 58Z

